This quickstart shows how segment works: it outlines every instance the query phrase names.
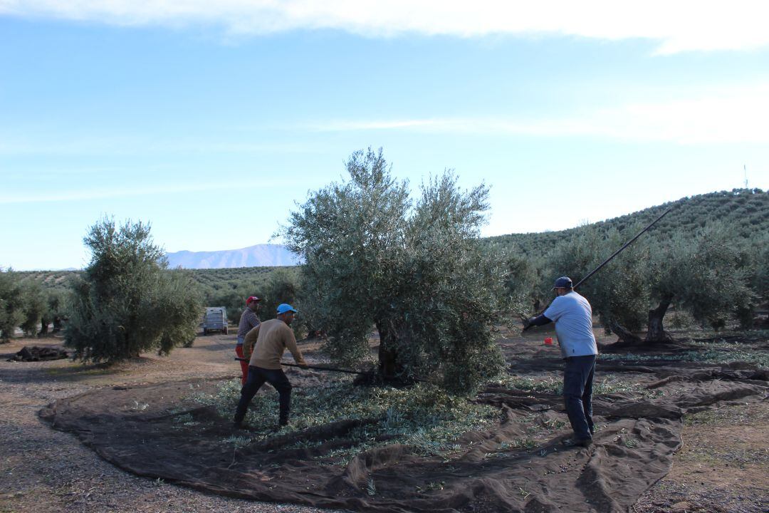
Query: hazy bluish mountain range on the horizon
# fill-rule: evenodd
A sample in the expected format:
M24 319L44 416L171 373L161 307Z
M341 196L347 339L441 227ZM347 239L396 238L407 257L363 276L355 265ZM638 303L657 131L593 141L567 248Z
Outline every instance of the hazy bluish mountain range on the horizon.
M284 245L258 244L248 248L228 249L219 252L167 253L168 267L185 269L221 269L233 267L277 267L299 265L301 259L289 252Z

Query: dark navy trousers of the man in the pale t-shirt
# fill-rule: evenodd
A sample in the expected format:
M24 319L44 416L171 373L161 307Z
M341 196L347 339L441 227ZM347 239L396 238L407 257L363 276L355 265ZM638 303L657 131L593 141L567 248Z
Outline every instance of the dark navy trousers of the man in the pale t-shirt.
M578 440L593 438L593 375L596 355L566 358L564 402Z

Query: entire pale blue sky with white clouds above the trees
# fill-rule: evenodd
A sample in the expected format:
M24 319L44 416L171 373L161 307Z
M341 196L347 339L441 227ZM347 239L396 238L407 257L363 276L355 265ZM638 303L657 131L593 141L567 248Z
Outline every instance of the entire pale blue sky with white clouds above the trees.
M268 242L368 146L490 185L483 235L769 188L762 2L138 3L0 0L0 267Z

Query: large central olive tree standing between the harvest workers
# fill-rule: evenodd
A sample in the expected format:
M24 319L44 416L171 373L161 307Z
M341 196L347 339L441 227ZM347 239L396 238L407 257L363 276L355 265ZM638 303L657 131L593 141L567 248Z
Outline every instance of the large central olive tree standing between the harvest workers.
M353 153L347 171L282 232L305 258L305 308L328 335L325 351L360 361L374 327L381 377L436 375L473 390L503 365L491 333L502 273L478 244L488 188L463 192L445 172L412 202L381 149Z

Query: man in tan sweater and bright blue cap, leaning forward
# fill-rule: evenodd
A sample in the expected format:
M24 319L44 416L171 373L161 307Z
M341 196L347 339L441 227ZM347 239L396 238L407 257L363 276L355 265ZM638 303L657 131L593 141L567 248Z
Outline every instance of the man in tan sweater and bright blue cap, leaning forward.
M285 303L278 305L278 318L262 322L245 335L244 351L248 355L253 348L253 352L248 361L248 379L241 388L241 398L238 401L238 409L235 410L236 428L245 428L243 424L245 412L251 404L251 399L265 381L278 391L280 398L278 424L281 426L288 424L288 411L291 409L291 382L281 368L283 352L288 348L291 355L294 355L295 361L304 368L307 367L305 358L302 358L301 351L296 345L294 331L290 327L295 313L297 311L291 305Z

